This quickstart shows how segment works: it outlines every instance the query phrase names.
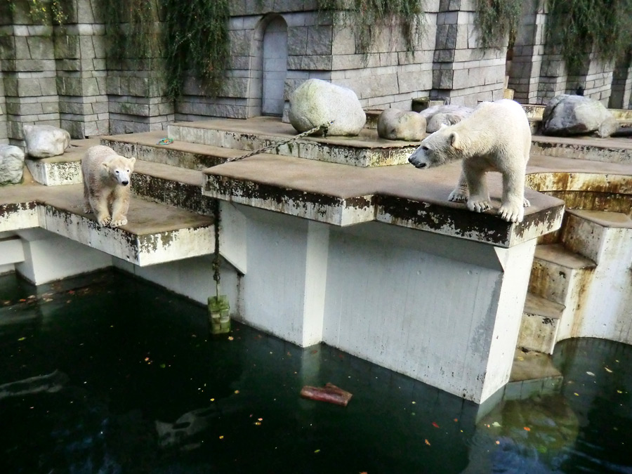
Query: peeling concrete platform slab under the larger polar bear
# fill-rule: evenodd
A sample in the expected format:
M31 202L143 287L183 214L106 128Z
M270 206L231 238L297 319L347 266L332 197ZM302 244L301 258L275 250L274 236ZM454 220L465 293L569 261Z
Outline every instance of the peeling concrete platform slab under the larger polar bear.
M564 203L536 192L527 194L532 206L525 208L522 223L507 223L496 216L501 195L498 173L489 176L495 209L478 214L447 201L459 173L460 164L427 171L409 165L358 169L266 154L204 171L203 192L331 225L377 220L501 247L560 227Z

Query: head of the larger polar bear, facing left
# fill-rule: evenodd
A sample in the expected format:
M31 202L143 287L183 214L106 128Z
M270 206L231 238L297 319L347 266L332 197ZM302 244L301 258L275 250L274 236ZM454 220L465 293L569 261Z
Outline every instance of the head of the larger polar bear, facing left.
M452 126L442 125L435 133L421 141L421 145L408 158L415 168L433 168L461 159L461 140Z

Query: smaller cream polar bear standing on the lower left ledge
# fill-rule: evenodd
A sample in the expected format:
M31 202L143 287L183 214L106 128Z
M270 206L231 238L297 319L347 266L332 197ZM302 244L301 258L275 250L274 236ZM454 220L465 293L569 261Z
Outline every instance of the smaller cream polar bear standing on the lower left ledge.
M96 214L99 225L126 225L130 177L136 158L121 157L112 148L96 145L81 159L84 212Z

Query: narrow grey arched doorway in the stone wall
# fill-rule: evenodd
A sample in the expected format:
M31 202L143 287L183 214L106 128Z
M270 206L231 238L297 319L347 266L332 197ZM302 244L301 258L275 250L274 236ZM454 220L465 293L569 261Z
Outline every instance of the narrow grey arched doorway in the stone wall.
M283 114L283 92L287 77L287 23L277 16L263 33L263 90L261 113Z

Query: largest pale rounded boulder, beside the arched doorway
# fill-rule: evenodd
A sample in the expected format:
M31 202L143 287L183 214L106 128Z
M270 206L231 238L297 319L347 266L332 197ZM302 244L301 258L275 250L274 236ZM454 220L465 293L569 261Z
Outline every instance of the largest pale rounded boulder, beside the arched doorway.
M367 121L360 100L351 89L320 79L308 79L290 97L289 121L299 132L328 124L328 135L355 136Z

